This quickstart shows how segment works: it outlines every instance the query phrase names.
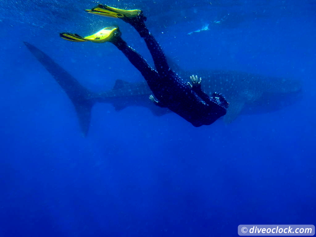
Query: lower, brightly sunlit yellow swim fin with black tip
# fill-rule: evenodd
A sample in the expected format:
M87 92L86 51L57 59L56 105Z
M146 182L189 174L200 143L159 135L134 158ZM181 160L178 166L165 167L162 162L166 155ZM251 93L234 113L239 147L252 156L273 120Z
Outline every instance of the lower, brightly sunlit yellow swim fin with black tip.
M97 33L89 36L80 36L72 33L60 33L59 36L65 40L73 42L85 42L91 41L94 43L113 42L121 36L121 32L118 27L106 27L99 30Z

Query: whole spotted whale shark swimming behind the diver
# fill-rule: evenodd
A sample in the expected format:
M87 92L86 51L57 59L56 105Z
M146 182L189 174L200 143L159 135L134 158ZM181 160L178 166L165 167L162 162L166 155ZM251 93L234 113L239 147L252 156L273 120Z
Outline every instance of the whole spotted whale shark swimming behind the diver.
M84 136L88 134L91 109L95 103L111 103L116 111L128 106L144 106L157 116L171 112L167 108L156 106L149 100L152 92L145 81L127 82L118 79L112 90L95 93L82 86L76 78L46 53L30 43L24 42L24 44L71 100ZM226 123L231 123L241 113L267 113L282 109L284 106L299 101L302 96L302 83L299 80L238 71L199 70L191 72L182 70L173 62L170 63L170 66L173 70L176 69L181 77L193 74L202 77L202 89L206 93L220 92L225 95L229 102L227 114L223 116Z

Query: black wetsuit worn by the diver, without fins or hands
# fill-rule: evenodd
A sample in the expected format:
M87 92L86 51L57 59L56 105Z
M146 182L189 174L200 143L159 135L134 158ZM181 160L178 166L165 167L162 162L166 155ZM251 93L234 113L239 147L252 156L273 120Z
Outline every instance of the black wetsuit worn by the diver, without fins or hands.
M167 107L193 126L210 125L216 119L226 114L228 106L225 97L214 93L211 97L201 89L201 85L190 88L168 66L165 54L161 46L155 40L145 26L146 18L142 15L135 18L124 19L130 23L144 38L149 52L154 60L155 69L150 67L146 60L117 35L112 43L122 51L129 61L142 73L149 88L158 101L155 103L161 107Z

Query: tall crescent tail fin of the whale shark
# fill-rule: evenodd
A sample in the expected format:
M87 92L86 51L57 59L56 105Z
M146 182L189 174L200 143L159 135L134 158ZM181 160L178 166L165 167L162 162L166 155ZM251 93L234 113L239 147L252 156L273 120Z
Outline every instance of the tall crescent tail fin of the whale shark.
M96 101L94 93L83 87L73 76L54 62L46 53L30 43L24 42L28 50L54 77L55 81L63 88L76 109L79 125L83 136L86 137L89 131L91 109Z

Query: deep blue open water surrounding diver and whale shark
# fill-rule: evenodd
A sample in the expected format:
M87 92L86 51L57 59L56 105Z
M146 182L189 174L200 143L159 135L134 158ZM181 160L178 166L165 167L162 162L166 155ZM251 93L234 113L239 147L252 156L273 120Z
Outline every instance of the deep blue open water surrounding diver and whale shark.
M147 10L148 28L183 68L298 79L303 99L199 128L176 114L97 104L86 138L22 41L105 91L143 78L111 44L58 33L118 24L151 63L143 40L122 21L85 14L90 1L2 3L0 236L238 236L240 224L316 223L313 1L107 2Z

